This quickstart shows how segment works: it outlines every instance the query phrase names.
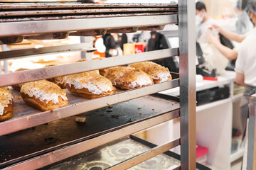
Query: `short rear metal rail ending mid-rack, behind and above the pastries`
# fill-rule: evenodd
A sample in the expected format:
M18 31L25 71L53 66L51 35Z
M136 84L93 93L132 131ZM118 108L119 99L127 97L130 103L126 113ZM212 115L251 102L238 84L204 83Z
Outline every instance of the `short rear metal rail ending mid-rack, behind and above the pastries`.
M40 47L40 48L29 48L22 50L9 50L0 52L0 60L12 60L23 57L33 57L37 55L54 54L58 52L76 52L76 51L87 51L92 52L96 50L90 47L88 43L80 43L73 45L56 45L52 47Z

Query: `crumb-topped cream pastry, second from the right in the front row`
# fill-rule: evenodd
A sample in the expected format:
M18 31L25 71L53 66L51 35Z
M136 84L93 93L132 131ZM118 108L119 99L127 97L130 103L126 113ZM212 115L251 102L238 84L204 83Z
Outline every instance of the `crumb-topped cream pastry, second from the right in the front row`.
M113 86L125 90L154 84L151 77L145 72L142 72L142 69L135 69L132 67L101 69L100 74L107 79L110 79Z

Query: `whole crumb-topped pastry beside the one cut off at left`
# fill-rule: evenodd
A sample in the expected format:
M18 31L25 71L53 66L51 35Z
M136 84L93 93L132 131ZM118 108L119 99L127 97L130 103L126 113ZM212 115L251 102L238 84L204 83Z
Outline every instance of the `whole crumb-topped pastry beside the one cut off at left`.
M29 106L40 111L50 111L68 105L65 91L47 80L24 84L21 87L21 97Z

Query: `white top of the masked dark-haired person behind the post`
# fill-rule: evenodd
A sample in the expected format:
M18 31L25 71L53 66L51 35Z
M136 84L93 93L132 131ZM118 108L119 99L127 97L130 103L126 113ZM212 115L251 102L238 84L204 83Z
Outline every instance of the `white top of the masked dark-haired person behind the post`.
M205 21L203 23L199 23L196 26L196 40L199 43L206 43L206 35L208 28L210 26L213 26L213 24L216 24L216 21L212 18L209 18L208 21Z

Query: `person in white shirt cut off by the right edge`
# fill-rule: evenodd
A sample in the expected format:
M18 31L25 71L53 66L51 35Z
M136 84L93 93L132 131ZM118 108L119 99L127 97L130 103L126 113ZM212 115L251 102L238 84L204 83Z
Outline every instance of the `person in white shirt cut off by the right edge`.
M249 4L250 19L256 26L256 1ZM235 63L235 82L246 86L244 96L240 104L242 114L242 128L245 130L249 113L248 103L252 94L256 93L256 31L250 33L240 45L238 59Z

